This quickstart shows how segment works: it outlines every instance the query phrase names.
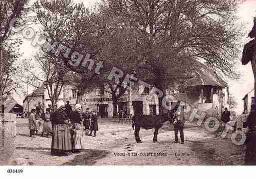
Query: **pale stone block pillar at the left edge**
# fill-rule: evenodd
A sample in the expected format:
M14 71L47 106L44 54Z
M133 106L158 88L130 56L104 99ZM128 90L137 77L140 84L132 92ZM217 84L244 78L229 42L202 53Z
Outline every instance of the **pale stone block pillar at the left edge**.
M0 165L6 165L15 155L16 115L0 115Z

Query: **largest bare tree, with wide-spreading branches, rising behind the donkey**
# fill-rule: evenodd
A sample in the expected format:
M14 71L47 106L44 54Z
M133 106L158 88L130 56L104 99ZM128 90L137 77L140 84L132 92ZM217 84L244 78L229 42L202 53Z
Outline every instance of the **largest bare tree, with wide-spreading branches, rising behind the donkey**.
M241 28L236 24L239 2L105 0L102 4L136 31L143 41L142 67L154 74L155 86L165 94L168 78L185 73L186 66L195 60L192 57L203 59L216 72L237 77L235 67L241 37Z

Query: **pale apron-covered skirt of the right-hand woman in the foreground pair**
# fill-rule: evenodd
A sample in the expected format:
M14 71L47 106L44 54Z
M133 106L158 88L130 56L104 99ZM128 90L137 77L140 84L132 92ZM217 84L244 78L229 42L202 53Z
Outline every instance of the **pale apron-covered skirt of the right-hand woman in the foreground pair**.
M74 123L73 127L75 130L71 135L72 149L84 149L83 126L79 123Z

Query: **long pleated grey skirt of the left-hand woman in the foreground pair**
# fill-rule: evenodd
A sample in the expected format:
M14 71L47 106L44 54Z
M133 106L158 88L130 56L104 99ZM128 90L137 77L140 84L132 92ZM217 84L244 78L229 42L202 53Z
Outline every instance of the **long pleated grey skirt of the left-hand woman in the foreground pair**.
M52 151L69 152L72 150L70 127L66 124L55 124L53 128Z

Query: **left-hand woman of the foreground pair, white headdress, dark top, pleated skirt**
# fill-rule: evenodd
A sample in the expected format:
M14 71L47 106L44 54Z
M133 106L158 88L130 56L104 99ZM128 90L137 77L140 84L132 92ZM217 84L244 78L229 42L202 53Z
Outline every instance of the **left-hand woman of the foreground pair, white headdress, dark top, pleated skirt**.
M58 110L54 112L54 127L51 141L51 155L68 156L72 150L71 126L64 111L64 102L58 102Z

